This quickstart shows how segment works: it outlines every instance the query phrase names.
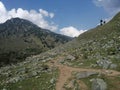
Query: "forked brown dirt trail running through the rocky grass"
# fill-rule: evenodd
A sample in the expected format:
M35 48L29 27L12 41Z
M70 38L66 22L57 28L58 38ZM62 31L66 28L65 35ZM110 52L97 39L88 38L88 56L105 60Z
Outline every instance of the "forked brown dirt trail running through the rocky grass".
M72 76L71 73L75 72L97 72L100 74L105 74L107 76L117 76L120 72L115 70L105 70L105 69L84 69L84 68L74 68L58 63L57 60L52 61L52 65L58 67L60 70L60 75L56 83L56 90L65 90L63 88L65 82ZM84 87L83 87L84 88Z

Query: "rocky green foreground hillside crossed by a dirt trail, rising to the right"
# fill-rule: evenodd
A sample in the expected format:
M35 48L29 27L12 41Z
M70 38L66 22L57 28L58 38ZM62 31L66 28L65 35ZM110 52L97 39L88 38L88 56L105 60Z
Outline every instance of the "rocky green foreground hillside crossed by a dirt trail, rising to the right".
M0 69L0 89L120 90L120 13L110 22Z

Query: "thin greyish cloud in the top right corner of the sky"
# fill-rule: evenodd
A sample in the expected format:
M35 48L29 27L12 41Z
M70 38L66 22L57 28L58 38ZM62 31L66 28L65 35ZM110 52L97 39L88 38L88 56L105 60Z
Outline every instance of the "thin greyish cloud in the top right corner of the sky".
M110 14L120 11L120 0L93 0L96 6L103 7Z

